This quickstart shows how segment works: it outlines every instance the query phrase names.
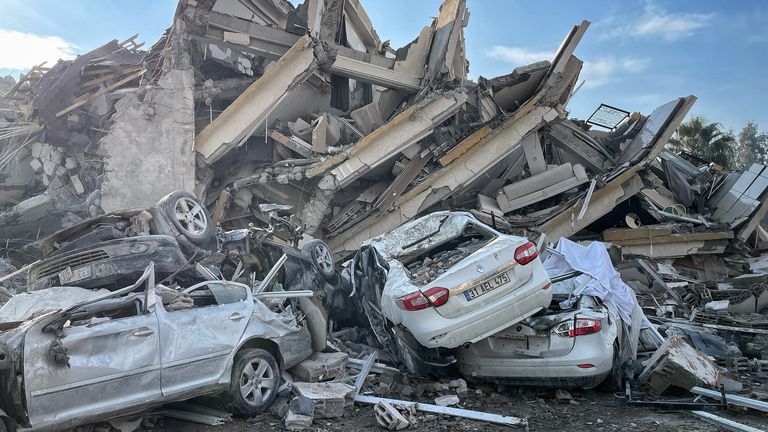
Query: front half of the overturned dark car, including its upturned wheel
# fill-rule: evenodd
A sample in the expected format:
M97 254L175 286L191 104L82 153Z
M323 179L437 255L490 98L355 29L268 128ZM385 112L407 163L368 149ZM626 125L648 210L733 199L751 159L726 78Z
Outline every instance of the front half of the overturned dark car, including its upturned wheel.
M97 216L44 239L43 259L29 269L29 290L119 288L150 261L166 277L215 251L216 241L206 208L187 192L173 192L149 208Z

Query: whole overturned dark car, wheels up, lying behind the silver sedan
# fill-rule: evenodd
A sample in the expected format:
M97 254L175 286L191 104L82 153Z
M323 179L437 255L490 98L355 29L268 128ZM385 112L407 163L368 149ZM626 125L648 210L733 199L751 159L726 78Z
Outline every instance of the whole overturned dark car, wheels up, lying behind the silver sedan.
M232 279L240 266L241 282L262 280L283 255L289 285L323 284L336 272L322 240L298 247L302 227L280 215L287 206L262 204L266 226L223 230L192 194L176 191L146 209L97 216L59 231L40 242L43 259L28 273L28 290L77 285L117 289L142 274L151 261L159 279L192 284L199 263Z

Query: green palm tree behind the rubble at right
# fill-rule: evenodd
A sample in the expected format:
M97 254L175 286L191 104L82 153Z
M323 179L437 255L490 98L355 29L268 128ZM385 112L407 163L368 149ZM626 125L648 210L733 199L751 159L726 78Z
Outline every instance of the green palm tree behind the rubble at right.
M723 132L720 123L708 123L703 117L693 117L677 127L669 140L669 147L675 151L687 151L705 161L730 168L735 159L736 137Z

